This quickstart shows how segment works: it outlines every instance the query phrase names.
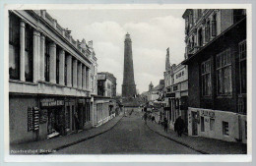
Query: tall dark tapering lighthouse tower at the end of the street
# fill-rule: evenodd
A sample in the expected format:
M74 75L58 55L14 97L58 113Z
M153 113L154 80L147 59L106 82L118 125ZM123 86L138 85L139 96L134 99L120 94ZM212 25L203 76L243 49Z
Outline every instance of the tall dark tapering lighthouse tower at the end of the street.
M130 34L127 32L124 40L124 69L123 69L122 96L133 97L135 96L135 94L136 94L136 84L134 82L132 40L131 40Z

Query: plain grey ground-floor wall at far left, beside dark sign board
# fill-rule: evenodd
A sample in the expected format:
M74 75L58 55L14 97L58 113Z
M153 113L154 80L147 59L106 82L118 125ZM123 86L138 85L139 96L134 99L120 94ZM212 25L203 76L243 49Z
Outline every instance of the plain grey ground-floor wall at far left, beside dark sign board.
M36 139L36 132L28 132L28 107L37 107L36 97L9 95L10 143Z

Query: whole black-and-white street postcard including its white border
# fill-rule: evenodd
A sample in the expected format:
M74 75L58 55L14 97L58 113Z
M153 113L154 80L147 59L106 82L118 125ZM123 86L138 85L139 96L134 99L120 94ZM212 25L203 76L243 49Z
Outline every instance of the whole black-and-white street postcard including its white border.
M4 22L9 158L251 160L250 5L10 4Z

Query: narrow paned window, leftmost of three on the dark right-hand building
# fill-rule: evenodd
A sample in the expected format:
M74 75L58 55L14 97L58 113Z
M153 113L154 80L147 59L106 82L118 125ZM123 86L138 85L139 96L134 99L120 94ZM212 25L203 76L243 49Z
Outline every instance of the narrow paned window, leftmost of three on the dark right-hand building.
M212 95L211 59L201 65L202 96Z

